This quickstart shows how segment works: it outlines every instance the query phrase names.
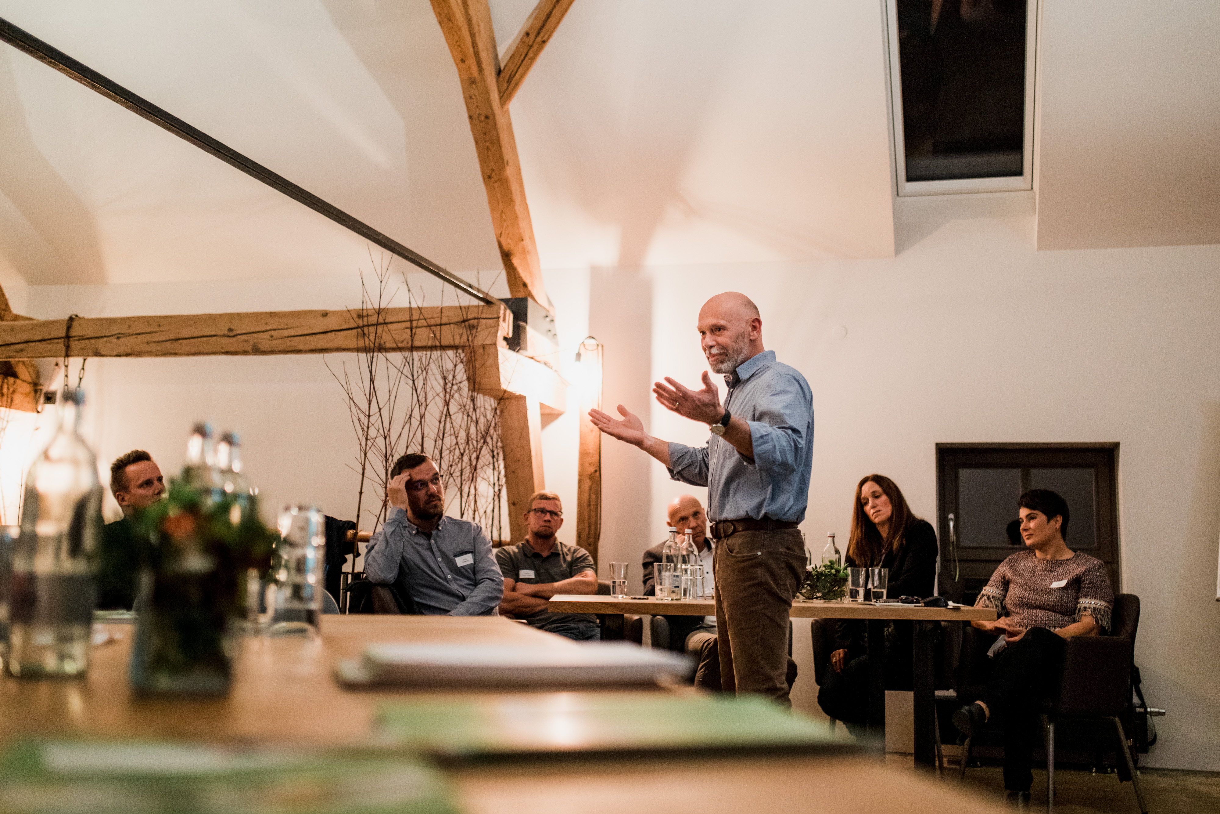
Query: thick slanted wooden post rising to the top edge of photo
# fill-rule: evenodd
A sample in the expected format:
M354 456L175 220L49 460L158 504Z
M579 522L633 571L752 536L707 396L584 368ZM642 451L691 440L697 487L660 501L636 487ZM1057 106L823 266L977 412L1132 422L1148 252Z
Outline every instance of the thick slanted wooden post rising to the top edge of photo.
M500 104L500 59L492 12L487 0L432 0L432 11L458 67L509 290L549 310L512 121Z

